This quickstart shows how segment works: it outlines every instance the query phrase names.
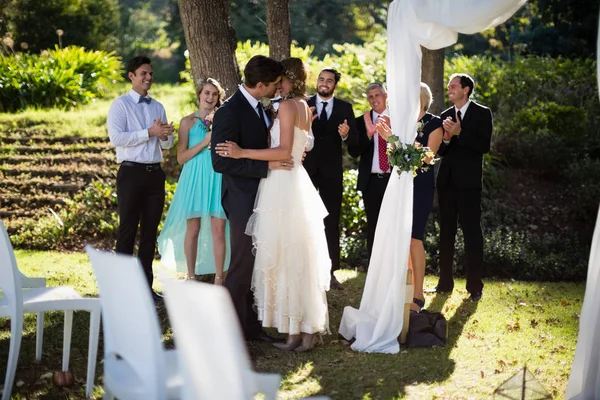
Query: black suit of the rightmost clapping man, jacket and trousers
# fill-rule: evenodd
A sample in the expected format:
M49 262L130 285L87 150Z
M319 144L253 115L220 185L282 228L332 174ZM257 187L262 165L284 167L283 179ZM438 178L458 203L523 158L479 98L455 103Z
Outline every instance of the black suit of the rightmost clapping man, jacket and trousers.
M456 110L444 111L441 119L456 121ZM440 280L438 288L454 287L452 263L457 222L465 238L467 257L467 290L479 293L483 289L483 232L481 229L481 189L483 155L490 151L493 121L489 108L471 102L462 118L459 136L449 144L442 143L438 154L443 156L437 188L440 208Z

